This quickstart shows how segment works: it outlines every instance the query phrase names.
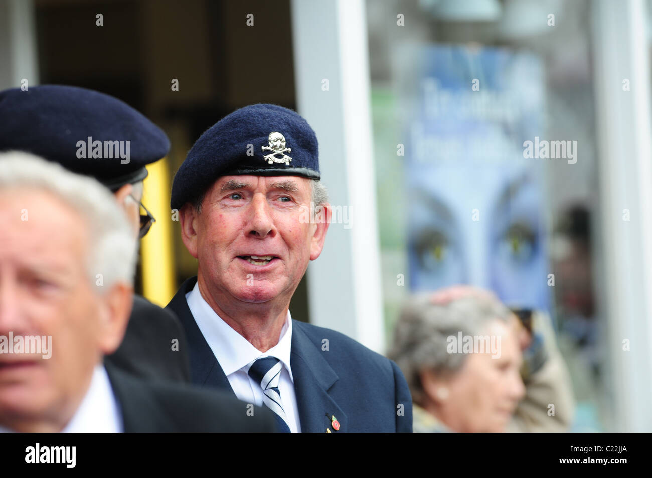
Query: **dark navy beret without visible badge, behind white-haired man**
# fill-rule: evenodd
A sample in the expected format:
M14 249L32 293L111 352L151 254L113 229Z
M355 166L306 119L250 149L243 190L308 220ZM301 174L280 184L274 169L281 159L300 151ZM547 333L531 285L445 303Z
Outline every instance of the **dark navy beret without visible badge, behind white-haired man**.
M170 140L125 102L77 86L0 92L0 151L22 150L93 176L110 189L147 176Z

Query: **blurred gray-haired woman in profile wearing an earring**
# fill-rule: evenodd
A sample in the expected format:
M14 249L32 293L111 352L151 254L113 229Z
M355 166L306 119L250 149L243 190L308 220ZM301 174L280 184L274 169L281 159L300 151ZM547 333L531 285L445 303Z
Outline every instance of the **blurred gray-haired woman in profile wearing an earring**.
M411 297L394 330L389 356L408 380L415 432L502 432L524 397L518 319L463 290Z

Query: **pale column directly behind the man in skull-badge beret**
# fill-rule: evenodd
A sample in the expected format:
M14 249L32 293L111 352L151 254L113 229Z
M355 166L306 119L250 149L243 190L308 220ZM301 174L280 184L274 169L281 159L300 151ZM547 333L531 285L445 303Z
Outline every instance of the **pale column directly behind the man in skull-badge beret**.
M331 204L350 220L331 224L321 257L308 267L311 321L382 352L364 1L292 0L291 8L297 109L317 133Z

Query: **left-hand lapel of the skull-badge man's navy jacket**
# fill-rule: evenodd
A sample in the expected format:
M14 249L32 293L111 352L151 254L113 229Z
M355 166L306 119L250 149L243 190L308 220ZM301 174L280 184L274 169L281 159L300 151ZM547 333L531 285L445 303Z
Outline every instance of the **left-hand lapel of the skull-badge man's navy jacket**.
M224 375L222 367L218 364L215 354L213 354L211 347L209 347L206 339L201 334L200 328L197 326L188 308L186 294L192 291L196 282L197 277L195 276L181 284L179 291L170 300L170 304L166 308L177 314L186 333L192 383L220 388L222 390L230 390L233 393L228 378ZM233 393L233 396L235 397L235 393Z

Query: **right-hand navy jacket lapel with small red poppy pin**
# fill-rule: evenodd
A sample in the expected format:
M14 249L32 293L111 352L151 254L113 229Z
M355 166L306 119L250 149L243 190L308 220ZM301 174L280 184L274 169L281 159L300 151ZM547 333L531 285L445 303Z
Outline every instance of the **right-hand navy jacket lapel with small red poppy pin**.
M310 341L301 328L301 323L293 321L290 366L301 431L325 433L329 429L331 433L336 432L331 421L331 417L334 417L340 425L337 432L346 432L348 419L328 393L338 376L322 353L324 352Z

